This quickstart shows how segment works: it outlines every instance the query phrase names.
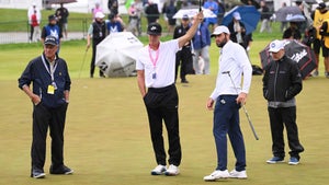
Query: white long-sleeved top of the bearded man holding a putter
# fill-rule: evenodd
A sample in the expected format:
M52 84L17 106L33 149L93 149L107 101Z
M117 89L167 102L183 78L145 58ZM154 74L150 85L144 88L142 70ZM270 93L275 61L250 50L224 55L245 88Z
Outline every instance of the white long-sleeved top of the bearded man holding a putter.
M220 50L218 62L219 70L216 80L216 88L211 97L213 100L217 100L219 95L224 94L236 95L240 92L249 93L252 78L252 67L245 48L231 41L227 42ZM227 71L229 71L237 90L235 89ZM241 88L242 73L243 85Z

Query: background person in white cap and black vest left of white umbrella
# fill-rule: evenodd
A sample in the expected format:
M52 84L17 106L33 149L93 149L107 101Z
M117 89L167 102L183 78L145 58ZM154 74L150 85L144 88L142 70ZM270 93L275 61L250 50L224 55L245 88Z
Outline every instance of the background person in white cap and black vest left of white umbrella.
M90 78L93 78L94 73L94 60L97 55L97 46L106 37L106 24L103 20L105 18L104 13L97 12L95 21L90 24L87 35L87 50L90 47L90 41L92 38L92 58L90 62ZM100 77L105 77L102 70L100 70Z

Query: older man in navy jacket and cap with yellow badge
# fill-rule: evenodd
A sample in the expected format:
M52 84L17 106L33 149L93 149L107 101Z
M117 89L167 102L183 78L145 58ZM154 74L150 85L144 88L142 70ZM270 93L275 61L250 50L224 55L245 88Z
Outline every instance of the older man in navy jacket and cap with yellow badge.
M33 103L33 140L31 148L31 177L45 176L46 138L52 137L50 174L71 174L64 164L64 129L71 80L67 63L56 55L58 41L47 36L44 53L31 60L19 79L22 89ZM31 83L33 89L30 89Z

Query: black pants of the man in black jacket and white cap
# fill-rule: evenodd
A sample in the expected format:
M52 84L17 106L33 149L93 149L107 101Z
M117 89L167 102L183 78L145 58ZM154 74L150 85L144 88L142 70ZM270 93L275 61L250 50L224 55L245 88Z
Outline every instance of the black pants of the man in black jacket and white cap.
M272 108L269 107L269 116L272 134L272 152L274 157L284 158L284 126L287 132L287 140L290 146L290 155L299 160L299 153L304 151L303 146L298 139L298 128L296 124L296 106Z

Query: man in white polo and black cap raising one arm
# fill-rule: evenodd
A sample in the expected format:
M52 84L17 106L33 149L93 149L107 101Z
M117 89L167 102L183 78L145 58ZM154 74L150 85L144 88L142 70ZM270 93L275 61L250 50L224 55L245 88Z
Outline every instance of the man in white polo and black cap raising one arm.
M194 36L203 21L203 12L195 15L195 22L188 33L177 39L160 42L162 27L150 23L147 28L149 44L139 51L136 60L137 82L146 105L152 147L157 166L151 175L178 175L182 153L179 136L179 96L174 85L175 53ZM146 89L148 89L146 91ZM164 120L169 141L169 167L162 137Z

